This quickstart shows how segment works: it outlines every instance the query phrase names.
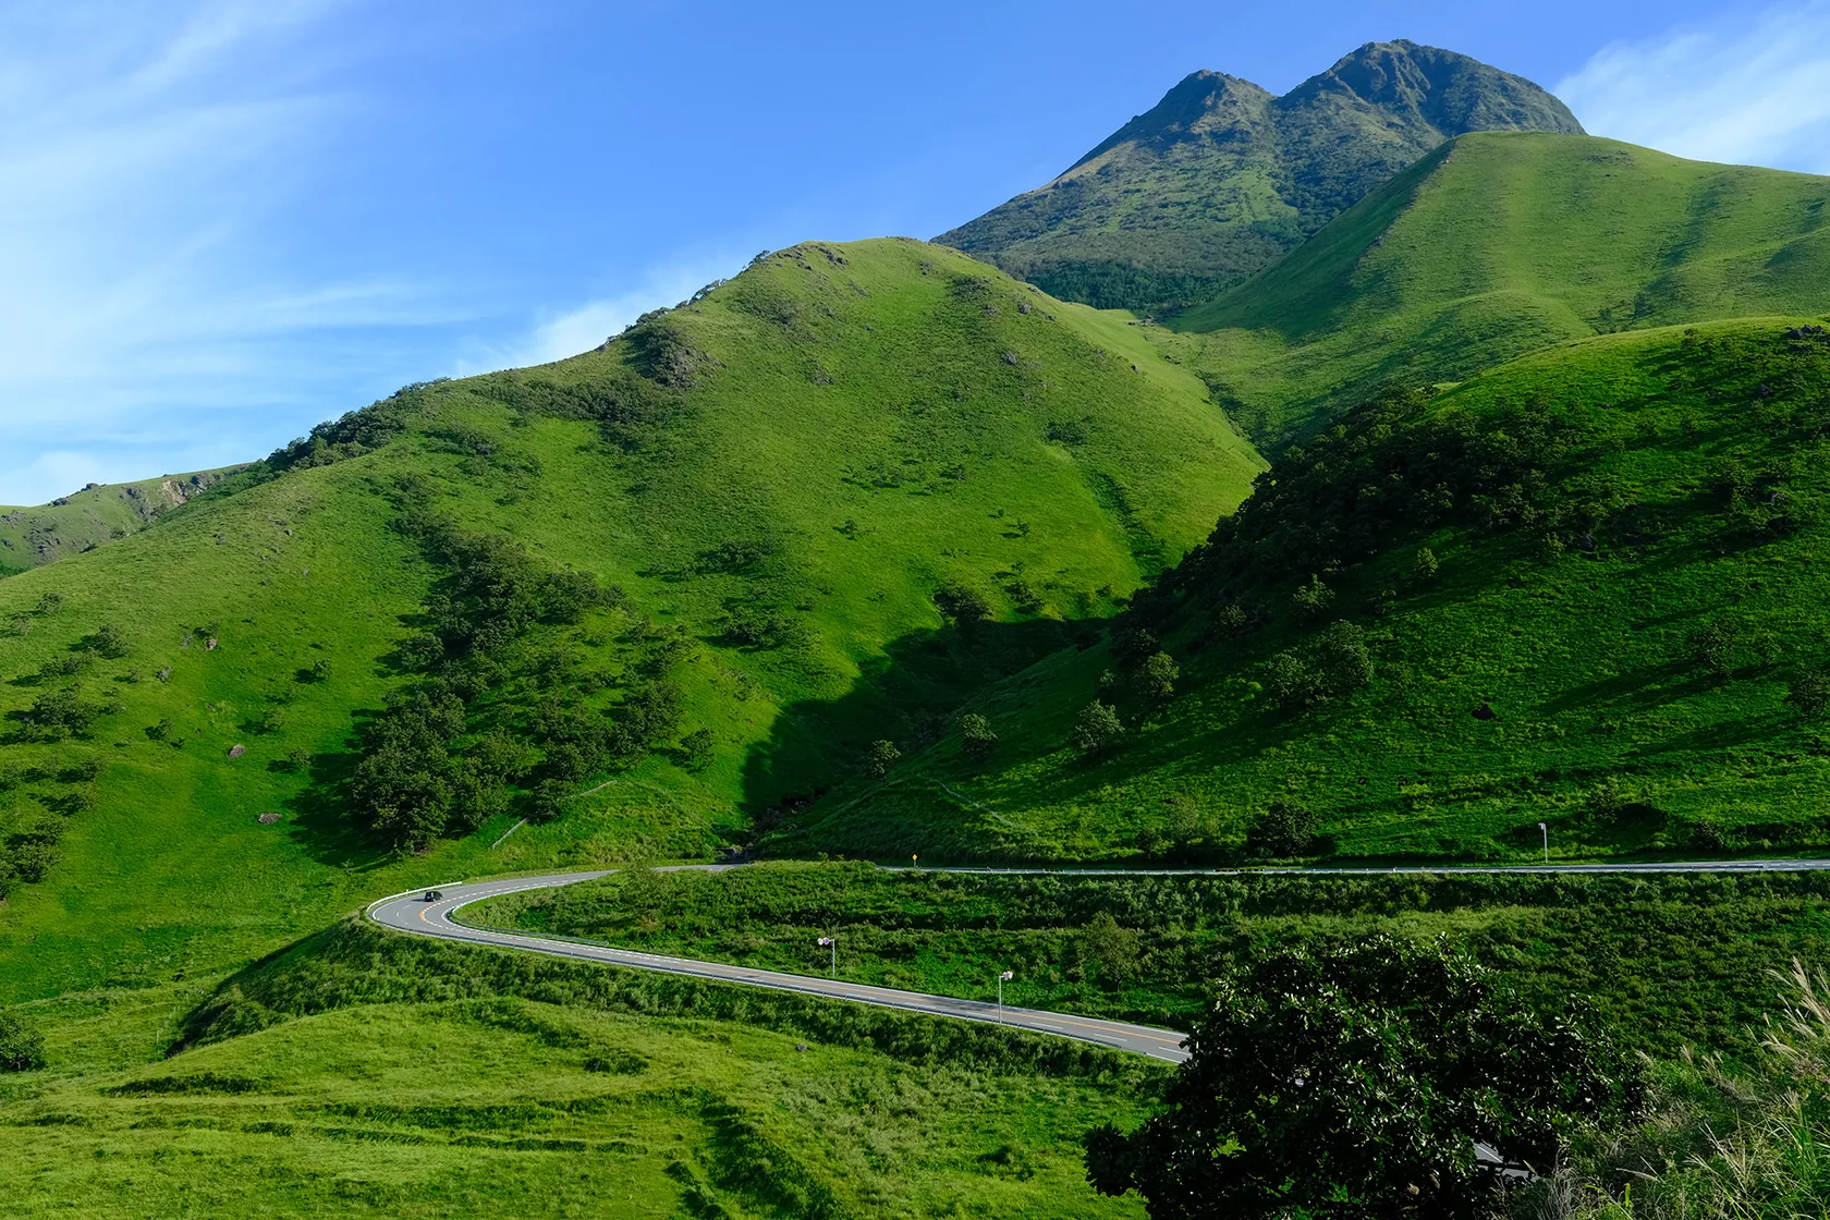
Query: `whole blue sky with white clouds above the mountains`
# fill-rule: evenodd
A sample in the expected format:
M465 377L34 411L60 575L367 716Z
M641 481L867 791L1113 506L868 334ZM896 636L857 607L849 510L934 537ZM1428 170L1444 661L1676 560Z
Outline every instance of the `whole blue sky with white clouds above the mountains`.
M756 251L933 236L1182 75L1372 38L1830 172L1830 2L0 5L0 503L582 351Z

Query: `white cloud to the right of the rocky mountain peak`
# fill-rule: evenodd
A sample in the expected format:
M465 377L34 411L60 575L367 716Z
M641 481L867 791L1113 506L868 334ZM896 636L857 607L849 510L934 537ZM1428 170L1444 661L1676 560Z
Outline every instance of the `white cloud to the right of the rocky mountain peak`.
M1830 174L1830 2L1612 44L1556 93L1594 135L1698 161Z

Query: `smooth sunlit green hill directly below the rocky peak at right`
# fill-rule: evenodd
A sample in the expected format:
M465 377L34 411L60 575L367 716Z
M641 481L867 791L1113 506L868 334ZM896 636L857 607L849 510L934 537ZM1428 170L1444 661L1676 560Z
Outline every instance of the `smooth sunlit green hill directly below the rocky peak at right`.
M1598 333L1830 309L1830 179L1473 134L1153 331L1276 446L1389 379Z

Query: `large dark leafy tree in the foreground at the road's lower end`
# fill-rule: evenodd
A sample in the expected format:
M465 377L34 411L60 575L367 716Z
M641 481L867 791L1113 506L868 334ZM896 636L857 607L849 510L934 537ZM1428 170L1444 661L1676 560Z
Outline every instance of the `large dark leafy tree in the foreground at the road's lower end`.
M1486 1215L1477 1143L1548 1169L1577 1121L1643 1108L1583 1011L1532 1010L1444 940L1274 951L1221 982L1157 1118L1087 1134L1087 1178L1153 1220Z

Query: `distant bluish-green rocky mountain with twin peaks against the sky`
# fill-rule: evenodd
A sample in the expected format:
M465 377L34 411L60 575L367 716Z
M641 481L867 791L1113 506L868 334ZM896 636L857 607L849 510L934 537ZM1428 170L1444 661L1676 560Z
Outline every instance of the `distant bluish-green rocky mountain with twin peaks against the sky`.
M1100 307L1208 300L1479 130L1581 124L1530 80L1405 40L1283 97L1197 71L1054 181L935 240Z

